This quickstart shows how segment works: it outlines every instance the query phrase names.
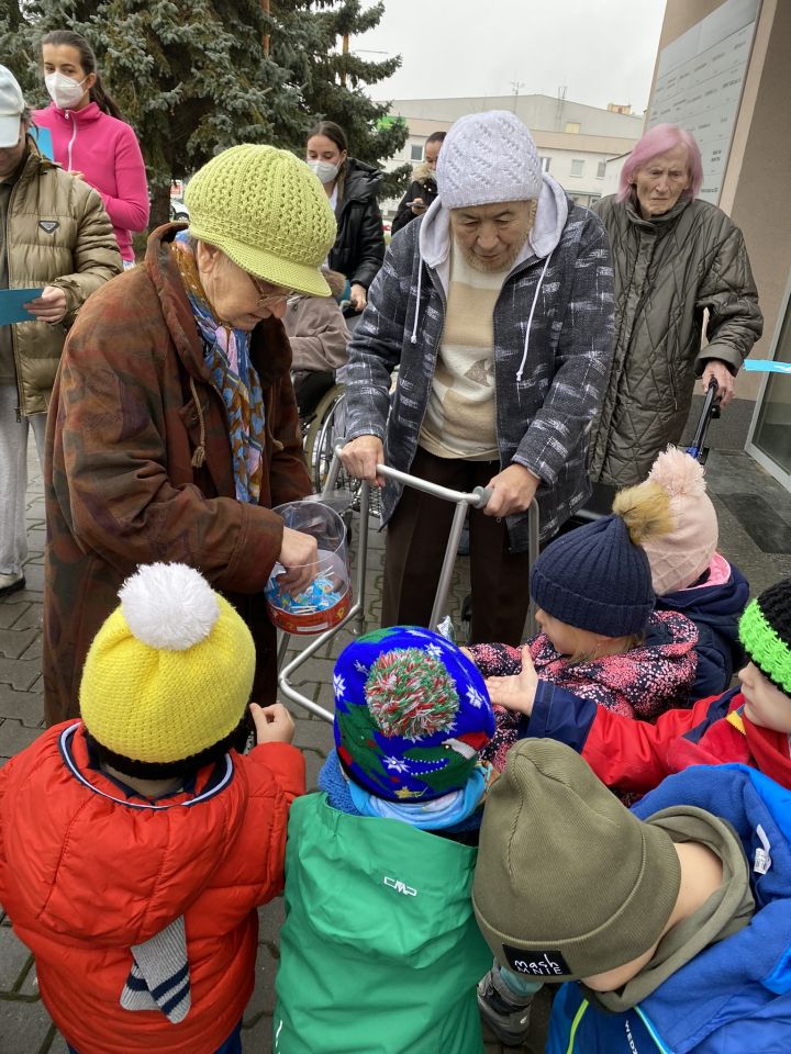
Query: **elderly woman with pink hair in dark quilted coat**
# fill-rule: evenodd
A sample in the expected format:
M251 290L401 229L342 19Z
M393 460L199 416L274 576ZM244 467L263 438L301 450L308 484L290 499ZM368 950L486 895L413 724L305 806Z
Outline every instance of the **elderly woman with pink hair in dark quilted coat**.
M704 391L714 379L726 405L761 335L742 232L698 199L702 181L694 138L660 124L626 159L617 194L593 206L615 271L615 348L590 445L594 481L644 480L656 456L681 438L695 377Z

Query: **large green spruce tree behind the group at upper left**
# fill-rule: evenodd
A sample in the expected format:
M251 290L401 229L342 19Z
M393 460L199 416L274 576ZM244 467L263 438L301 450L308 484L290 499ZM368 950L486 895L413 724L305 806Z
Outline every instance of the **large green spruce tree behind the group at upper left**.
M365 63L342 48L344 34L379 22L381 3L365 12L358 0L270 0L270 8L266 14L260 0L5 0L0 54L30 103L45 105L41 36L69 29L89 41L140 138L154 224L167 218L171 179L236 143L302 156L320 117L343 125L350 153L372 165L405 141L399 123L380 123L387 106L364 91L400 58Z

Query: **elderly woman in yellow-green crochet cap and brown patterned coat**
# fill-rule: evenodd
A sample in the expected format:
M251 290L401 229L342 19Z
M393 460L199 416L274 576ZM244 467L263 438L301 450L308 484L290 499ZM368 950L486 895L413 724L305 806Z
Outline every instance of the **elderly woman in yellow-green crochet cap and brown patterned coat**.
M312 538L271 509L310 493L291 351L293 292L328 295L335 217L308 166L236 146L190 181L190 225L148 239L144 262L91 296L53 392L45 471L45 716L78 710L90 642L142 563L197 568L249 627L253 698L275 698L264 586L292 578Z

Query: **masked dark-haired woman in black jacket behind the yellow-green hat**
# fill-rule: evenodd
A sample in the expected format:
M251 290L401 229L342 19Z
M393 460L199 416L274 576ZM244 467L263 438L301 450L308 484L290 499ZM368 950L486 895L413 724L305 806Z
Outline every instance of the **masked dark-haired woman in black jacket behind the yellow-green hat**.
M383 173L348 156L346 133L334 121L320 121L311 131L305 160L321 180L337 220L337 238L327 265L346 276L352 306L360 312L385 259L385 232L377 202Z

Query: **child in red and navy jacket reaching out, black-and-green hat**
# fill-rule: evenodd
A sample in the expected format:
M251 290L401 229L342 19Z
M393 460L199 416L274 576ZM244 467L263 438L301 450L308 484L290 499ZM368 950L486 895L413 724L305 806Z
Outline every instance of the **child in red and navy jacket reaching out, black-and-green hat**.
M740 688L662 714L654 725L624 719L571 692L538 689L535 668L487 682L492 703L519 713L519 737L557 739L599 778L645 794L689 765L740 762L791 789L791 579L747 606L739 637L749 660ZM526 649L524 649L526 651ZM524 660L523 651L523 660Z

